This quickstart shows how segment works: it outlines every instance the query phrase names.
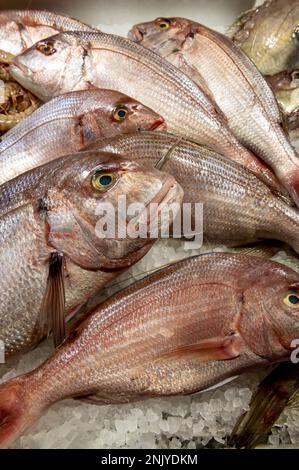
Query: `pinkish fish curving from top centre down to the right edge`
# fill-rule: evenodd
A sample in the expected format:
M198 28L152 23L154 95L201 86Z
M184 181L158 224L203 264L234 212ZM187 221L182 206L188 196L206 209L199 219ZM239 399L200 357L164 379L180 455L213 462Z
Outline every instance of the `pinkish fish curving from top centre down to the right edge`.
M134 26L130 37L204 82L239 141L273 169L299 206L298 155L271 88L246 54L226 36L184 18Z

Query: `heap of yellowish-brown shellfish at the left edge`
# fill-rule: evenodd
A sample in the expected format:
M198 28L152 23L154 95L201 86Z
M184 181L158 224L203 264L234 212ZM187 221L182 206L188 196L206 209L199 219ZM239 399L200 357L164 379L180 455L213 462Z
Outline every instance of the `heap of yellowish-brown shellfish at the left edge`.
M0 136L39 106L39 99L15 82L0 63Z

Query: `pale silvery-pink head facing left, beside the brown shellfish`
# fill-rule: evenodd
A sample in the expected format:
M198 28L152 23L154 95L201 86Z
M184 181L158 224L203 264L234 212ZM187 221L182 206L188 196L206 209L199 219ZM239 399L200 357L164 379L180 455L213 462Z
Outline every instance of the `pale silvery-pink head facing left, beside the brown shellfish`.
M86 50L78 35L59 33L35 43L16 56L10 65L12 77L42 101L67 91L76 91L82 78ZM86 88L90 86L86 83ZM80 86L80 89L84 87Z

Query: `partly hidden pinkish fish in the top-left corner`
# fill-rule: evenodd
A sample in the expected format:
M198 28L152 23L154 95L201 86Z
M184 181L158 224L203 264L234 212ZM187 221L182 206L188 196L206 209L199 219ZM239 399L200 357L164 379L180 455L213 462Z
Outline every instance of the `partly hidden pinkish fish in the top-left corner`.
M0 11L0 61L10 62L38 41L60 31L94 31L67 15L47 10ZM7 53L7 54L5 54Z

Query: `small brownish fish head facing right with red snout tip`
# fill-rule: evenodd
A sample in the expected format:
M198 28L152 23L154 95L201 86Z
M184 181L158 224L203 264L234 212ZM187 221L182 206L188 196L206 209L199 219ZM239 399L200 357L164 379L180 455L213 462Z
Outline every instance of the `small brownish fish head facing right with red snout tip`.
M162 116L139 101L113 90L94 92L98 96L99 110L105 109L105 114L98 113L99 126L105 126L105 136L128 134L136 131L165 130L166 124Z

